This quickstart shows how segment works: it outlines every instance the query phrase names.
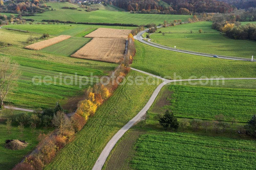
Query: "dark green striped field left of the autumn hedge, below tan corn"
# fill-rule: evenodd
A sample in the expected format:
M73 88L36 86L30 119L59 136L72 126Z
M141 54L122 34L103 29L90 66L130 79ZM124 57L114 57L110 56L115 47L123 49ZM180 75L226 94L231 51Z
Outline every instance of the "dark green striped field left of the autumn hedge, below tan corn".
M35 59L28 59L22 57L10 56L12 60L20 64L19 70L21 75L17 81L17 87L13 91L9 92L5 100L5 104L13 105L17 107L24 108L46 108L54 107L55 103L60 100L62 104L71 104L70 98L73 96L83 94L84 89L92 86L95 79L89 79L89 84L79 87L79 77L78 82L75 84L74 79L71 82L69 77L74 78L75 73L81 76L91 76L91 73L95 75L104 75L100 70L87 69L85 67L64 65L52 62L45 62ZM61 75L60 75L61 73ZM40 76L43 79L45 76L47 83L42 83L37 85L32 83L34 76ZM49 76L52 80L49 80ZM56 81L54 77L56 76ZM61 76L61 77L60 77ZM65 78L65 76L67 76ZM64 83L64 79L67 84ZM81 80L83 83L86 82L85 79ZM35 80L38 82L38 79ZM74 100L74 99L72 99Z

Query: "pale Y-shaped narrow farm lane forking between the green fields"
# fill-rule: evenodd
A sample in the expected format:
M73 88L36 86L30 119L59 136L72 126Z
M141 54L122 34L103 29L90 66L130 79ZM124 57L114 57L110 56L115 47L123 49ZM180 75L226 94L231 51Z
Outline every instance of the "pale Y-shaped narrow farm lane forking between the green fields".
M223 80L221 78L216 78L216 79L185 79L185 80L167 80L159 76L152 75L150 73L147 73L145 71L137 70L135 68L131 68L132 70L147 74L149 76L153 76L156 78L159 78L163 80L161 84L157 86L153 94L151 95L150 99L148 100L147 104L143 107L143 109L135 116L133 117L126 125L124 125L107 143L103 151L101 152L98 160L96 161L95 165L93 166L92 170L101 170L106 159L108 158L108 155L110 154L111 150L115 146L116 142L124 135L124 133L130 129L136 122L141 120L141 116L143 116L146 111L150 108L150 106L153 104L153 102L156 99L156 96L162 89L162 87L170 82L175 82L175 81L192 81L192 80ZM256 80L256 78L225 78L224 80Z

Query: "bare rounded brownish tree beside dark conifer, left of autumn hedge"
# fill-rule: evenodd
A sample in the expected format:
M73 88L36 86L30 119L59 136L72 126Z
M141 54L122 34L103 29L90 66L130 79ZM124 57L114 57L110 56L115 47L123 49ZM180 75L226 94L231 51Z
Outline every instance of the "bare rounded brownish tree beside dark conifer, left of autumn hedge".
M71 128L70 119L64 112L58 111L52 118L52 124L56 127L58 134L64 135L66 130Z

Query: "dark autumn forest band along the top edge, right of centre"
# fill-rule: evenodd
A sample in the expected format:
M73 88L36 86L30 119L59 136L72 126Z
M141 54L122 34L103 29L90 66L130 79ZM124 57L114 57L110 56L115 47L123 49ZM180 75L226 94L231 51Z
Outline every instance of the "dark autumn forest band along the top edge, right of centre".
M217 0L109 0L111 4L127 11L137 11L136 13L149 14L182 14L191 15L194 13L227 13L233 10L228 3ZM138 12L139 11L139 12Z

